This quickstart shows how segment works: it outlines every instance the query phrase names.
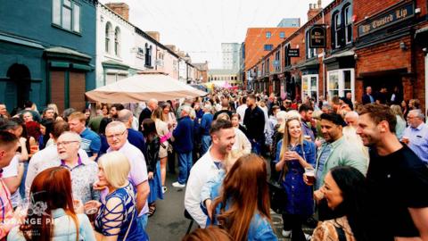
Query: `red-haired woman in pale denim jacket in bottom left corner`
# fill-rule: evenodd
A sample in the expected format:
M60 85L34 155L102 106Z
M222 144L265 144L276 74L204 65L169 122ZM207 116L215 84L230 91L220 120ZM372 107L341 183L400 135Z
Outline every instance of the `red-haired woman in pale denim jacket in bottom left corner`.
M54 167L40 172L30 188L27 217L8 240L95 240L91 223L71 195L70 170Z

